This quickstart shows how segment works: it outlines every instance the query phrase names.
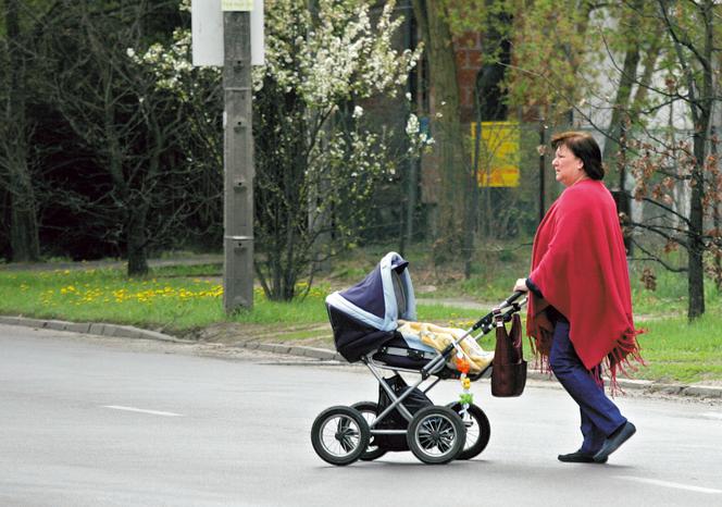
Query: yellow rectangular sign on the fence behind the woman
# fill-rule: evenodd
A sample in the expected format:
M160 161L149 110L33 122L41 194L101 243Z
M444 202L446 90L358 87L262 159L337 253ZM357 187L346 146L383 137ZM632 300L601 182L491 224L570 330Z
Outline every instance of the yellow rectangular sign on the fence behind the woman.
M472 163L478 123L471 124ZM516 122L482 122L476 175L483 187L518 187L520 129Z

